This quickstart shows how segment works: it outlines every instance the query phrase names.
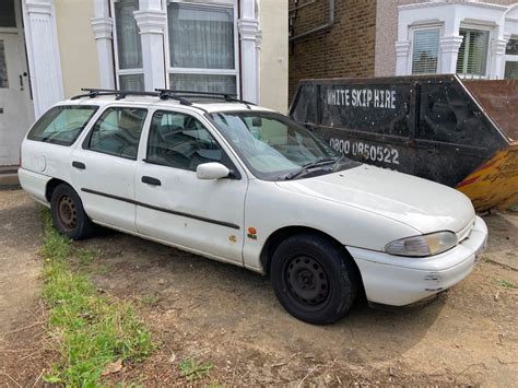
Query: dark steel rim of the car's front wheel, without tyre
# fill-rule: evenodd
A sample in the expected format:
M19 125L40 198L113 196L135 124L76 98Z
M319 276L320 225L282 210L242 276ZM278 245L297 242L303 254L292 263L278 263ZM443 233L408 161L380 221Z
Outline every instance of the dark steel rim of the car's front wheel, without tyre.
M305 310L318 310L329 301L329 277L313 257L296 256L286 260L283 281L289 297Z

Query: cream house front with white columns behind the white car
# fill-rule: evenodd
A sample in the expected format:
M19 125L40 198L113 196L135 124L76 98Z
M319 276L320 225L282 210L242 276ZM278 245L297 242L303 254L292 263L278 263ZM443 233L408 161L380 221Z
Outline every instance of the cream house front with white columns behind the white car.
M287 2L2 0L0 166L81 87L236 94L287 108Z

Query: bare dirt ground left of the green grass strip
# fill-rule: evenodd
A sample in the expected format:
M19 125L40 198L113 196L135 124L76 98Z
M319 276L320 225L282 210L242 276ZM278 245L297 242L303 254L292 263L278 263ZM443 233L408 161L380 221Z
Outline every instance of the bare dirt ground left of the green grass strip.
M47 360L40 302L39 205L22 191L0 191L0 386L32 386Z

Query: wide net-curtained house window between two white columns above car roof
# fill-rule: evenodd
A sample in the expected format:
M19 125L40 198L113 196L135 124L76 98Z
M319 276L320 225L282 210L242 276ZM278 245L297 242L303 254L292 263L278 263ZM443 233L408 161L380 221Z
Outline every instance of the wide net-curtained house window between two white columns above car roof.
M169 87L237 93L235 1L167 4Z

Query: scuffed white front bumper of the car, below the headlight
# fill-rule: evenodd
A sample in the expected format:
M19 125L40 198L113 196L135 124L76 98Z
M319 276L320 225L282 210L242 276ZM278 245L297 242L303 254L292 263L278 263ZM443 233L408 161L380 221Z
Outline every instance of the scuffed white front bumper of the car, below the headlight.
M367 299L404 306L447 290L464 279L473 270L486 242L487 227L476 216L467 239L455 248L432 257L409 258L346 248L360 268Z

